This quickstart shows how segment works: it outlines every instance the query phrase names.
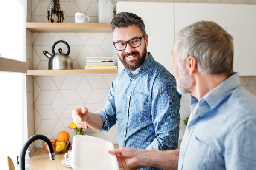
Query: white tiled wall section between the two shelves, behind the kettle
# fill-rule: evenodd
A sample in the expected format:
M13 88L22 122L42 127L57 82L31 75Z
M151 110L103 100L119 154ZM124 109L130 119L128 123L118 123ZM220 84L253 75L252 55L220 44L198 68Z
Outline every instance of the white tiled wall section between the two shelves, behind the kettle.
M64 40L70 45L69 56L73 60L73 69L84 69L86 57L113 57L112 37L110 33L33 33L34 70L48 69L48 61L43 51L52 54L52 45ZM55 52L62 48L67 53L67 46L58 43Z

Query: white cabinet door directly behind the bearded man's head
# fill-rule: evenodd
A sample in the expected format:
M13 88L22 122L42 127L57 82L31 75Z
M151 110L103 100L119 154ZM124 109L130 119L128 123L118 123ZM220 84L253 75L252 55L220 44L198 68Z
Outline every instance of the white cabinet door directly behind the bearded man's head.
M148 52L172 74L172 47L174 44L173 3L117 2L116 13L131 12L145 23L148 34ZM116 51L114 51L116 55ZM118 59L119 72L123 69Z

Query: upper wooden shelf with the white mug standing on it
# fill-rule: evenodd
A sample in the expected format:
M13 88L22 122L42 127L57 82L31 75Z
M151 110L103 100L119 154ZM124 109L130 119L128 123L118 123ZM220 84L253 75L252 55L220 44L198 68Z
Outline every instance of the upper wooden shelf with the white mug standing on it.
M110 23L27 23L31 32L110 32Z

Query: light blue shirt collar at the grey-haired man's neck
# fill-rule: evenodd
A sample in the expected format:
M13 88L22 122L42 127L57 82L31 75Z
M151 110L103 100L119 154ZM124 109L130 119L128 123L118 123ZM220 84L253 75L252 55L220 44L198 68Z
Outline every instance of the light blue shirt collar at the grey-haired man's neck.
M239 74L235 73L205 94L202 99L204 99L212 108L215 108L221 102L227 92L236 88L239 84Z

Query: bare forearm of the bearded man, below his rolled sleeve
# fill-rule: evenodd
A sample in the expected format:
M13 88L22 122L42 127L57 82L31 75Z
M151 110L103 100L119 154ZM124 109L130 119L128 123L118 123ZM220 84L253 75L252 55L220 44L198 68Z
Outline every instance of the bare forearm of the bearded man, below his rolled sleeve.
M101 130L103 127L102 118L97 113L87 113L87 125L94 130Z

